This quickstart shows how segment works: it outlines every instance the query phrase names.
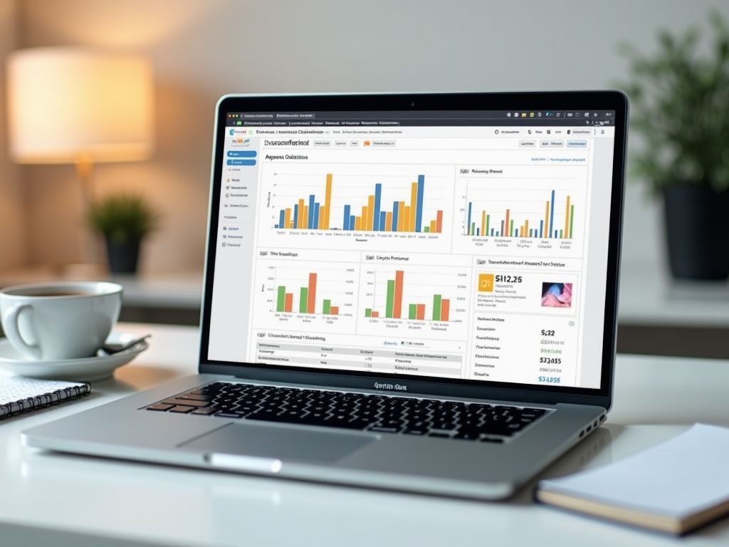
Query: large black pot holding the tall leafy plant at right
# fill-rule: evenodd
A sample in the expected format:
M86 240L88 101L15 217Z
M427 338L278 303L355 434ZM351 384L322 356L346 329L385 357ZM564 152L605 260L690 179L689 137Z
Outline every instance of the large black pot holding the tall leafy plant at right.
M671 274L679 279L729 276L729 190L666 187L666 234Z

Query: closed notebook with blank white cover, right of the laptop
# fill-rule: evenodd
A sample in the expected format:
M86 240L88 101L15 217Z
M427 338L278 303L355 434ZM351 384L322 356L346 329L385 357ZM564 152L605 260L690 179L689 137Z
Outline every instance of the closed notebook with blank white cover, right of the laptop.
M540 481L542 503L682 535L729 514L729 429L696 424L602 468Z

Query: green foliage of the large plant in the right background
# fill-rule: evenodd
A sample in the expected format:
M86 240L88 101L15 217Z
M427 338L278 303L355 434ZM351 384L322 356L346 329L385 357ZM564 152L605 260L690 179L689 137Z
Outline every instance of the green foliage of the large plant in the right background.
M631 167L654 193L670 185L729 188L729 26L716 12L709 23L707 55L698 53L698 28L661 31L655 55L620 47L631 61L631 79L620 87L631 101L631 128L644 137Z

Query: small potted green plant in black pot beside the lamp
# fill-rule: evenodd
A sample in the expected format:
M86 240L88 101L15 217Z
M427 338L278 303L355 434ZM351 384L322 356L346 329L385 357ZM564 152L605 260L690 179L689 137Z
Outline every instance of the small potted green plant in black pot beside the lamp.
M160 214L141 195L123 193L93 203L86 220L92 230L104 236L109 270L133 274L141 241L159 227Z

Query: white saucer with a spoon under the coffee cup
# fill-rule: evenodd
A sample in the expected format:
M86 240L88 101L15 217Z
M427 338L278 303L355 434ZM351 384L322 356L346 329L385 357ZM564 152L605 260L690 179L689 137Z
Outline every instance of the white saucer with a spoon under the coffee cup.
M139 334L111 333L106 338L106 344L128 344L136 338L139 338ZM21 376L45 380L99 381L112 376L115 368L126 365L148 347L147 341L141 341L133 348L112 355L100 351L97 357L35 361L18 352L7 338L0 338L0 368Z

